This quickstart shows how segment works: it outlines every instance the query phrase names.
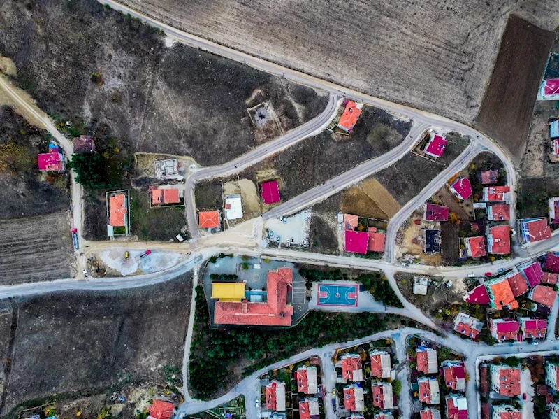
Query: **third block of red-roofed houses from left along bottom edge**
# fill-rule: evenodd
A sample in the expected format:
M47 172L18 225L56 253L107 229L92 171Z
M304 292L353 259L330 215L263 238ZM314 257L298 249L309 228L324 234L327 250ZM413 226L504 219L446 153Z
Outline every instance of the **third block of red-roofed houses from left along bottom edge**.
M416 369L412 376L417 376L412 383L412 392L416 397L415 410L421 419L440 419L442 404L440 382L444 381L444 409L449 419L467 418L467 400L465 397L466 371L461 360L444 360L440 364L437 349L422 342L416 348Z

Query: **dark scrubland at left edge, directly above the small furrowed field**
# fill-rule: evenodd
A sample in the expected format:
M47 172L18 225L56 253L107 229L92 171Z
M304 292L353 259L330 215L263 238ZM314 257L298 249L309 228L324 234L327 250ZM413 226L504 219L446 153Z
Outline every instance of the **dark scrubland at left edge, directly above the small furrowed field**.
M37 155L48 151L45 132L8 106L0 107L0 219L68 209L68 176L41 174Z

